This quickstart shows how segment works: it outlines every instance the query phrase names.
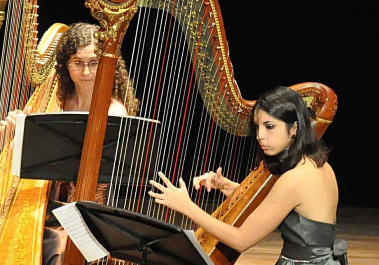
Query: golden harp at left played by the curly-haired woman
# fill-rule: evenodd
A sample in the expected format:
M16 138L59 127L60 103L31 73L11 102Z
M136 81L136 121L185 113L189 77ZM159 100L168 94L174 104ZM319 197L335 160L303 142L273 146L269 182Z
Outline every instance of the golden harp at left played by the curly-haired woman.
M32 112L59 110L54 50L67 26L54 24L38 43L37 7L36 0L8 2L0 67L2 120L7 111L25 106ZM10 127L0 139L0 263L41 264L50 181L12 176Z

